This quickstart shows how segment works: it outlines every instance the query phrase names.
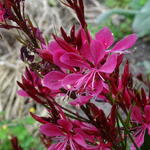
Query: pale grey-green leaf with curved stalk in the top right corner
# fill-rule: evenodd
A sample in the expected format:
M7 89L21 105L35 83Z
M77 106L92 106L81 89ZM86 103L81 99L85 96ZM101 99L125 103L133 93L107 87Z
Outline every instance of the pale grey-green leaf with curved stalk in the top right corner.
M145 4L146 0L141 0L141 6ZM124 15L127 16L128 19L130 19L130 22L132 23L132 29L134 32L138 34L139 37L143 37L145 35L150 34L150 0L147 1L147 3L142 7L141 10L127 10L127 9L112 9L110 11L107 11L106 13L101 14L97 17L96 22L98 23L104 23L106 19L108 19L110 16L114 14ZM134 19L131 16L135 16ZM127 20L128 20L127 19ZM129 25L129 26L127 26ZM120 24L122 26L122 23ZM119 28L121 28L119 26ZM130 30L131 24L128 24L127 22L124 23L126 27L126 30Z

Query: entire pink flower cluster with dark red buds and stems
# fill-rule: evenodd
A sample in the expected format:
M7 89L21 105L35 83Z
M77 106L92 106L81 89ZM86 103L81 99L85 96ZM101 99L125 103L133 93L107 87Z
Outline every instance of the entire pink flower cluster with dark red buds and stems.
M42 124L43 143L48 150L125 150L128 145L139 149L145 135L150 135L150 96L134 86L128 61L123 71L120 67L136 34L113 44L113 34L104 27L92 37L83 1L62 3L74 10L80 28L73 26L68 35L61 27L61 37L53 34L50 43L25 17L23 0L0 4L0 27L17 28L28 36L28 40L20 38L21 59L28 67L18 82L18 94L47 109L47 117L31 113ZM149 88L141 75L138 79ZM70 108L59 104L58 96L64 96ZM99 107L101 102L111 105L108 115Z

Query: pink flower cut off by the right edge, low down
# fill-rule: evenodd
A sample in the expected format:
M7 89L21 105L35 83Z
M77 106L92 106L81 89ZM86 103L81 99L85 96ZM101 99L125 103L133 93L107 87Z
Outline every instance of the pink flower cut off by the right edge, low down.
M131 118L135 123L138 123L139 126L135 128L135 143L140 148L144 143L144 136L146 130L150 135L150 105L144 107L144 112L137 106L132 108ZM132 150L135 150L134 145L131 146Z

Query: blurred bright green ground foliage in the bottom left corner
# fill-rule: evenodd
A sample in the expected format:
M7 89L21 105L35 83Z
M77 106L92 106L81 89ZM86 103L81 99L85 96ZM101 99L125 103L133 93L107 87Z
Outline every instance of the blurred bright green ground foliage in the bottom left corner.
M24 150L36 149L43 150L40 139L34 137L29 132L28 128L31 128L35 124L35 121L31 117L26 117L22 120L13 121L1 121L0 122L0 150L11 150L10 139L12 136L17 136L19 144ZM26 126L27 125L27 126Z

